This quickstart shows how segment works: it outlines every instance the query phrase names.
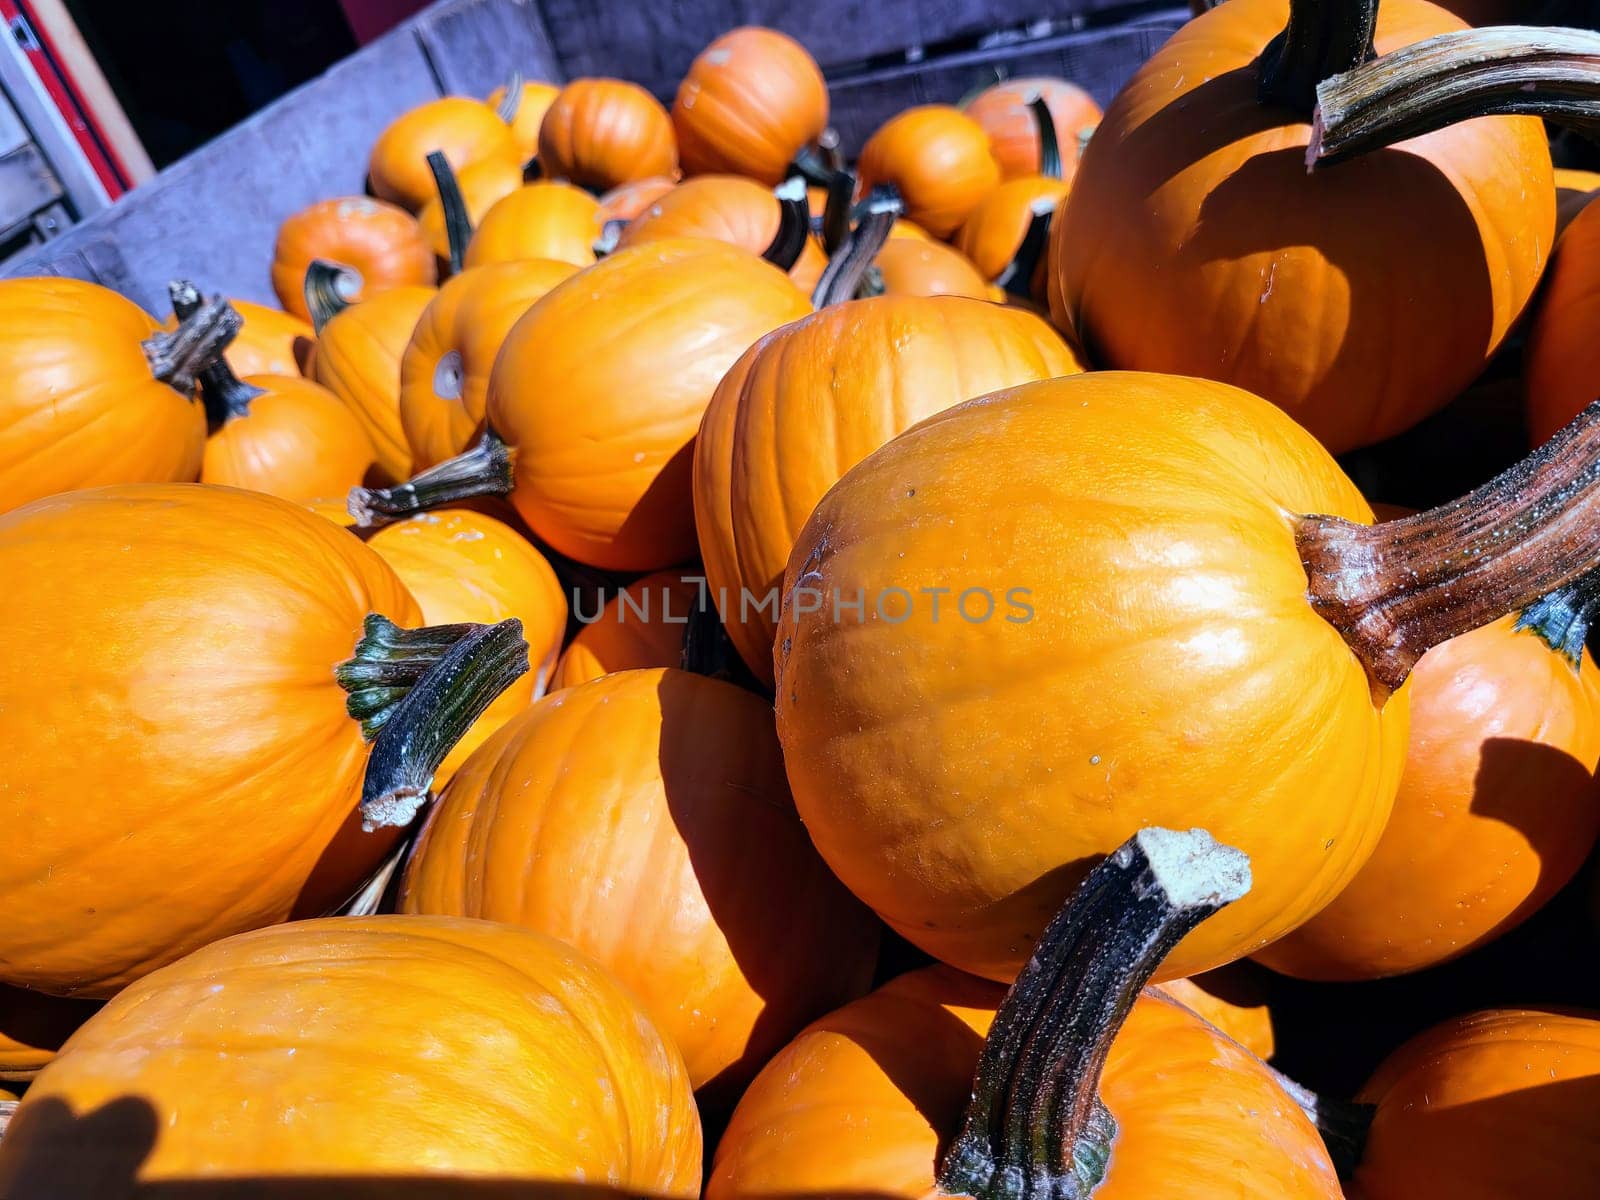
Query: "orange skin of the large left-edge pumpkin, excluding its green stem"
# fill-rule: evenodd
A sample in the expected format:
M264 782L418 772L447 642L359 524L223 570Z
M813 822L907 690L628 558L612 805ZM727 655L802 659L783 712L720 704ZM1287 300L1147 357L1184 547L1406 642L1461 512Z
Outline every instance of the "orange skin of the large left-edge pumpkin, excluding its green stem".
M0 859L0 981L110 995L283 920L360 798L334 667L368 613L421 624L395 573L293 504L195 485L38 501L0 518L0 826L29 830Z

